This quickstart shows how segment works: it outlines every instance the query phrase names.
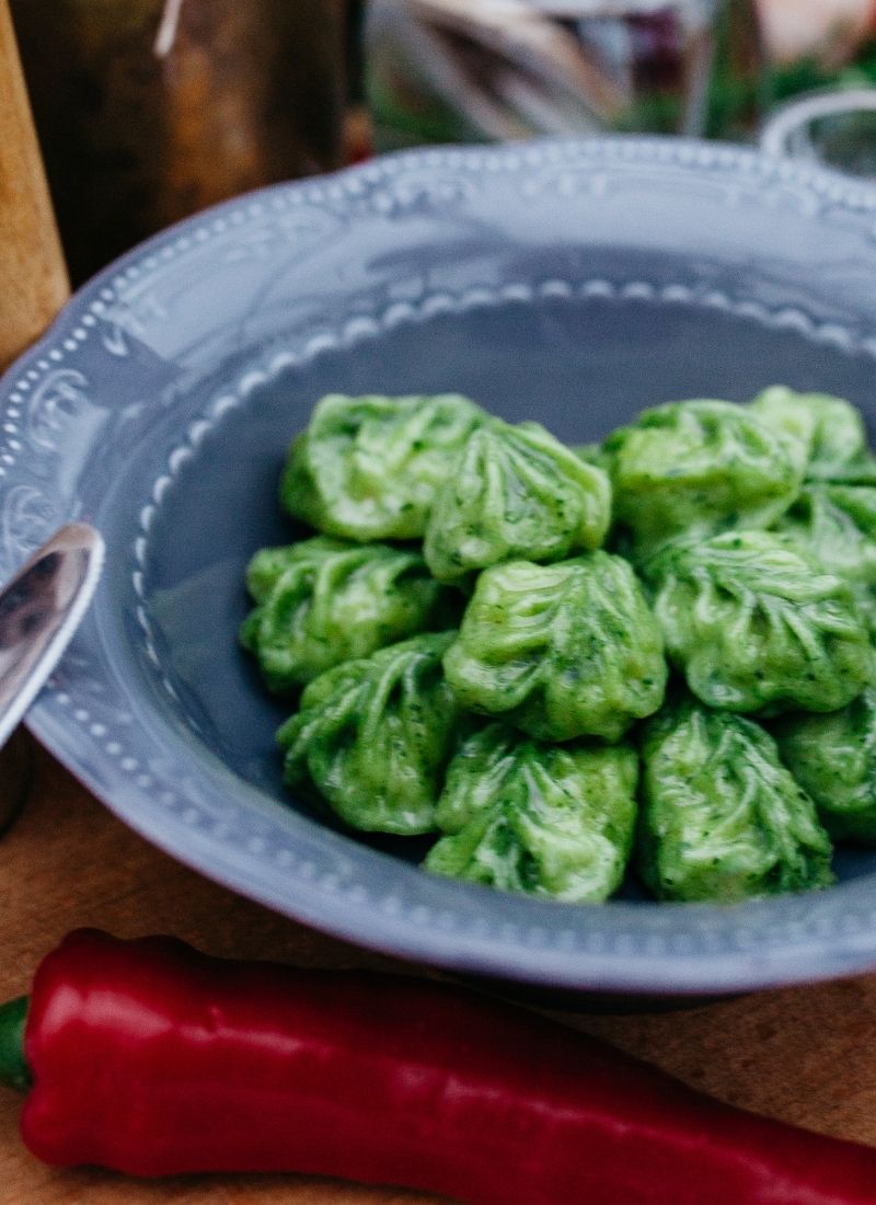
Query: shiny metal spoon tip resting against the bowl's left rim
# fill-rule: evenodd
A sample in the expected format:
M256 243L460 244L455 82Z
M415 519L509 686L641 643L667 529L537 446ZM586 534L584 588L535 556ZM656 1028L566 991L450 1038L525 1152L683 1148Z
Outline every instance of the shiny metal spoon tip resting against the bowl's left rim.
M92 600L104 540L87 523L60 528L0 589L0 833L22 799L20 747L2 750Z

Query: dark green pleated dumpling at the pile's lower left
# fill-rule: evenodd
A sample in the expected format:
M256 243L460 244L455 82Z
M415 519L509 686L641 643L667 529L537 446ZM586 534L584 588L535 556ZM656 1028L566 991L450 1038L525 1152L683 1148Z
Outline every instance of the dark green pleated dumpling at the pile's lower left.
M459 723L441 669L453 636L413 636L314 678L277 734L287 786L316 788L364 831L434 829Z

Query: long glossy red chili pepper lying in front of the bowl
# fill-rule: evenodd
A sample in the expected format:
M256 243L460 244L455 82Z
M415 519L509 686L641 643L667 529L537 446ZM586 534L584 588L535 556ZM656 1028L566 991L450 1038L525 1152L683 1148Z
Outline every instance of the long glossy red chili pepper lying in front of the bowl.
M876 1151L416 978L81 930L36 972L24 1054L22 1133L53 1164L312 1172L474 1205L876 1201Z

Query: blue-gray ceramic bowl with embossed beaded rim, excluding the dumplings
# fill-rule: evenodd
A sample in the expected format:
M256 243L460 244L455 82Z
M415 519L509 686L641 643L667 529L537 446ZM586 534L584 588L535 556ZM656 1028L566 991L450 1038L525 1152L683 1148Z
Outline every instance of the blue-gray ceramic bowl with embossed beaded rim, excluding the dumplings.
M107 570L30 725L175 857L308 924L551 988L721 993L876 966L876 854L731 909L569 906L430 877L280 782L235 633L329 390L463 390L563 439L772 382L876 417L876 192L682 141L402 154L241 198L83 289L0 388L0 572L64 519ZM419 851L417 851L419 852Z

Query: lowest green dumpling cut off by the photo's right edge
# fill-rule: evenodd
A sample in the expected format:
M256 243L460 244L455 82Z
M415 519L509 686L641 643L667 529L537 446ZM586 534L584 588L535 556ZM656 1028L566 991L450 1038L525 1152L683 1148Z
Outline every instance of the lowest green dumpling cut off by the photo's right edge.
M784 716L774 735L827 830L876 842L876 689L825 716Z

